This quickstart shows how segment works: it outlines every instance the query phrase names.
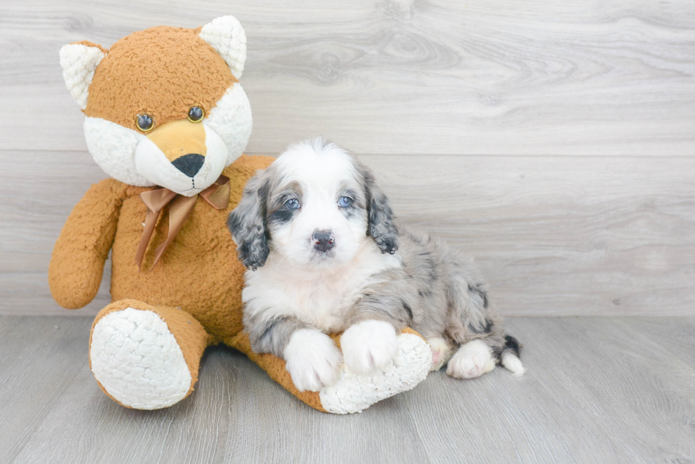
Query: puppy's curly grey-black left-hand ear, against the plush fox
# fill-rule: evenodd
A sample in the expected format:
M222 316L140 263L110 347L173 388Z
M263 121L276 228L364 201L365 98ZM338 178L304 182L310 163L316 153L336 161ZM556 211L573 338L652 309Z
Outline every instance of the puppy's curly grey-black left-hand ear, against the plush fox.
M270 252L265 237L268 182L264 172L260 171L249 179L241 201L227 218L227 227L237 244L239 261L251 271L263 266Z

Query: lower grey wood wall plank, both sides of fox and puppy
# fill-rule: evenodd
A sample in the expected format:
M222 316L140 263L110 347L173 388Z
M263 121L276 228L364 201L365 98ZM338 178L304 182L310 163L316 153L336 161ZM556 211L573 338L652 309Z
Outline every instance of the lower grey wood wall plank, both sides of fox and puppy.
M50 298L50 253L74 203L104 174L85 152L8 159L0 312L67 314ZM477 258L503 314L695 314L695 158L362 160L402 222ZM27 177L26 164L46 169ZM71 314L106 305L108 278L96 302Z

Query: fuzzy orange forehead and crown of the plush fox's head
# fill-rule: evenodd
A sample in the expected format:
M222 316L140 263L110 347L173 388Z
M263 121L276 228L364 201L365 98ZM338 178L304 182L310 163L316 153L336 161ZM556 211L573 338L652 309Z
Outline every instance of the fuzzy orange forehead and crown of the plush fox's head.
M186 119L191 106L209 114L236 79L199 32L158 26L118 40L96 68L84 114L133 130L138 114L151 115L155 125ZM127 89L114 85L123 81ZM185 91L172 94L174 87Z

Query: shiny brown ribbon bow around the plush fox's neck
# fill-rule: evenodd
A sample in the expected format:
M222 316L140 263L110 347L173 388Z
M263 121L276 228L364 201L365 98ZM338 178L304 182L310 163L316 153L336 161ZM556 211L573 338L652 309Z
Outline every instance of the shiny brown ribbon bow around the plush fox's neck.
M213 208L221 210L226 208L229 203L229 191L229 178L227 176L219 176L215 183L201 191L199 195ZM155 262L152 263L152 268L154 268L165 249L174 241L174 237L179 233L179 230L184 227L193 207L196 205L198 195L183 196L170 191L168 188L155 188L155 190L140 193L140 198L148 207L148 215L145 217L143 237L140 238L138 251L135 252L135 263L138 264L138 269L141 269L143 266L145 251L147 251L148 244L150 244L152 232L155 232L157 218L160 217L162 209L171 203L169 206L169 233L165 242L157 247L157 251L155 251Z

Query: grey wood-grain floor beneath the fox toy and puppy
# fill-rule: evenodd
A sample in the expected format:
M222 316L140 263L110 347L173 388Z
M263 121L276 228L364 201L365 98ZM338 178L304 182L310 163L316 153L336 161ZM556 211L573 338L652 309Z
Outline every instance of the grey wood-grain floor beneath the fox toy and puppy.
M640 463L695 460L695 318L510 318L528 372L444 373L362 414L316 412L210 349L154 412L91 375L87 317L0 317L3 463Z

